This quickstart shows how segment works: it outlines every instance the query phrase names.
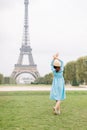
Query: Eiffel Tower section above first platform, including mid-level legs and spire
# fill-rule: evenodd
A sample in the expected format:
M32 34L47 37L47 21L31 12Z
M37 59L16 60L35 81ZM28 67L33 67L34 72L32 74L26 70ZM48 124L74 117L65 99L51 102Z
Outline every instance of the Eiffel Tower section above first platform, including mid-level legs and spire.
M29 65L35 65L33 56L32 56L32 49L30 47L30 37L29 37L29 24L28 24L28 4L29 0L24 0L25 5L25 14L24 14L24 34L22 40L22 46L20 48L20 56L17 62L17 65L22 65L23 63L23 56L27 55L29 60Z

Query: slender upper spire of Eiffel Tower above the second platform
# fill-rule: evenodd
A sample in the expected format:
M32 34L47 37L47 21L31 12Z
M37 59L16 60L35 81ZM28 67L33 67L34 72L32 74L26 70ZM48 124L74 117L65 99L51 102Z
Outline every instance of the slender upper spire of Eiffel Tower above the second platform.
M25 14L24 14L24 34L23 34L23 41L22 45L29 46L30 44L30 37L29 37L29 24L28 24L28 5L29 0L24 0L25 4Z

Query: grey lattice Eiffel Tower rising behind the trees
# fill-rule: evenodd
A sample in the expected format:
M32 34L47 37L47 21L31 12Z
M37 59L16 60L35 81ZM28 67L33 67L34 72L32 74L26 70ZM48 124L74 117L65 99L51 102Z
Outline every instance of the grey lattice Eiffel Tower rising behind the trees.
M24 0L25 5L25 17L24 17L24 34L22 40L22 46L20 48L20 55L18 58L17 64L15 64L15 68L11 74L11 77L15 80L17 77L23 73L29 73L33 76L34 79L38 78L39 72L37 70L37 65L34 63L32 56L32 49L30 47L30 39L29 39L29 25L28 25L28 5L29 0ZM27 55L29 64L23 64L24 55Z

